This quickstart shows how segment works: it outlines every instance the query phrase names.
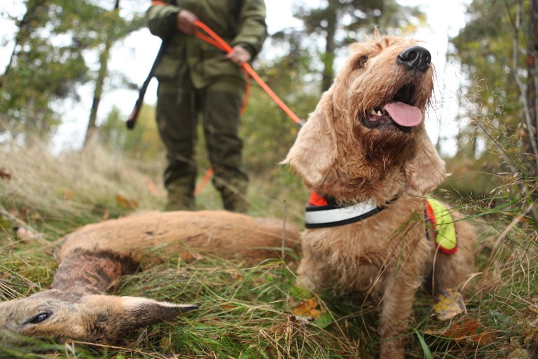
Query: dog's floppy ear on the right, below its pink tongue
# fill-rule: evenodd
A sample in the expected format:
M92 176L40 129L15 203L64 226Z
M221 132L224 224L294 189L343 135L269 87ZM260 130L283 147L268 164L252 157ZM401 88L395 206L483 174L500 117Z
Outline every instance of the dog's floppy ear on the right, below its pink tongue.
M406 178L412 189L427 194L434 190L446 177L445 161L429 140L426 130L422 128L418 134L417 151L403 167Z

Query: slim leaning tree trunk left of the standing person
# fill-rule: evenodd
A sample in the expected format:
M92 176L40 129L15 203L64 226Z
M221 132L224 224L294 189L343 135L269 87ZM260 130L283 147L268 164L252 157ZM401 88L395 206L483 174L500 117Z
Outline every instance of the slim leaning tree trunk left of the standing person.
M118 12L120 8L120 0L116 0L114 5L114 12ZM104 48L99 55L99 72L97 72L97 79L95 80L95 91L93 93L92 108L90 109L90 118L88 119L88 128L86 130L86 135L84 137L83 149L88 146L88 143L95 140L97 136L97 110L99 109L99 102L101 101L101 96L103 94L103 85L106 75L108 74L108 65L109 65L109 55L110 49L113 43L113 30L114 23L111 21L109 23L109 29L106 32L106 39L104 41Z

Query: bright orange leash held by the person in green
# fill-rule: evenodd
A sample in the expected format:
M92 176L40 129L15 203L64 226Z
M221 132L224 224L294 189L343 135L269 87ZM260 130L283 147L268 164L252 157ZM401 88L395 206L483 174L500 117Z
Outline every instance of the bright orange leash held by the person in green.
M203 32L198 32L197 31L195 33L195 35L199 39L202 39L203 41L215 46L216 48L220 48L221 50L226 51L226 53L231 53L232 52L232 50L233 50L232 47L226 41L224 41L221 38L221 36L216 34L216 32L214 32L212 29L210 29L203 22L201 22L200 20L196 20L194 25L196 25L197 27L202 29L207 35L209 35L209 36L207 36ZM252 69L252 67L247 62L243 63L242 69L243 69L243 72L244 72L244 77L247 80L247 87L244 90L244 99L243 99L243 104L241 106L241 113L244 113L244 109L247 107L247 100L248 100L248 97L249 97L249 88L250 88L250 83L249 83L249 75L250 75L258 83L258 85L261 86L261 88L263 88L263 90L265 90L265 92L273 99L273 101L275 101L275 103L295 123L297 123L299 126L303 126L303 121L301 121L301 119L298 118L298 116L296 114L294 114L294 112L291 111L291 109L289 109L289 107L287 107L286 104L284 104L284 102L282 102L282 100L280 100L280 97L278 97L273 92L273 90L271 90L271 88L267 85L267 83L265 83L265 81L263 81L261 79L261 77L258 76L258 74L256 74L254 69ZM196 187L196 189L194 191L195 194L198 194L198 192L202 191L202 189L205 187L205 184L207 184L207 182L209 181L209 178L211 178L212 175L213 175L213 168L209 168L209 170L207 170L207 172L205 173L205 176L204 176L204 179L202 179L202 182L198 185L198 187Z

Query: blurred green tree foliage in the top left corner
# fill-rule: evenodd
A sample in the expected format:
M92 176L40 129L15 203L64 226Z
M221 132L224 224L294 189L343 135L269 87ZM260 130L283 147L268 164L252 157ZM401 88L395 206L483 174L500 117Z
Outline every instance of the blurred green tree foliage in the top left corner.
M11 61L0 77L0 132L9 128L14 136L46 137L60 123L55 101L77 99L76 86L92 77L88 53L107 36L121 39L138 29L142 17L123 20L87 0L27 0L25 5Z

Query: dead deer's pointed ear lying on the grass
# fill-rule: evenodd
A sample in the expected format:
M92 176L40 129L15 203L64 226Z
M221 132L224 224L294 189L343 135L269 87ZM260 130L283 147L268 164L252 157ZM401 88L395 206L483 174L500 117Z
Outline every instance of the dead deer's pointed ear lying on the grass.
M123 319L130 327L146 327L171 320L181 313L198 309L195 304L157 302L142 297L120 297Z

